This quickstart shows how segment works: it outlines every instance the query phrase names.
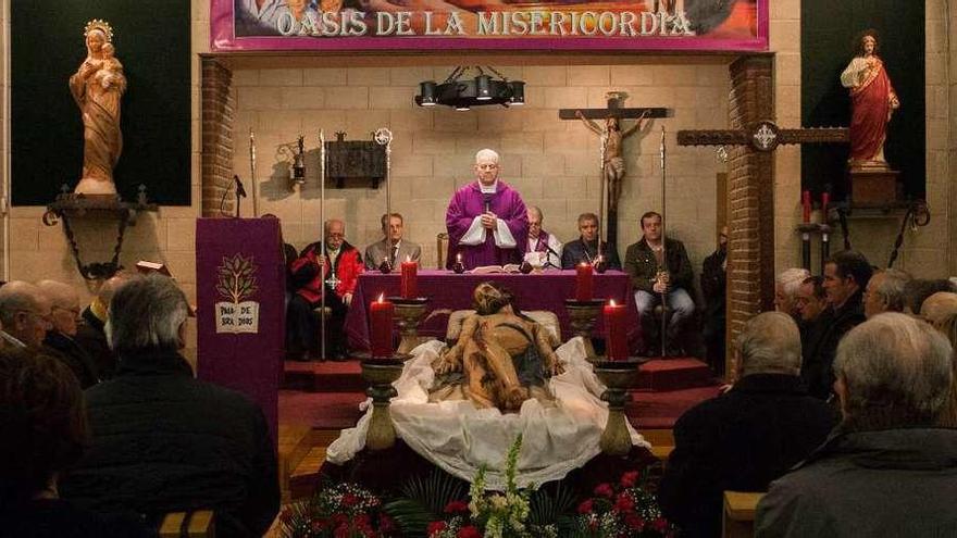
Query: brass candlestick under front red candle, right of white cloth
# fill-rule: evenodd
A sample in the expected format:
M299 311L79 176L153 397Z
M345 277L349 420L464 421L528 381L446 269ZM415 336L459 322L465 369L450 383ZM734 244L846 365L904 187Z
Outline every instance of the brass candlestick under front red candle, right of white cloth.
M595 374L605 384L606 389L601 399L608 402L608 422L598 446L601 452L609 455L626 455L632 450L632 438L629 435L624 406L631 401L632 396L627 389L634 385L638 377L641 361L629 359L626 361L596 361Z

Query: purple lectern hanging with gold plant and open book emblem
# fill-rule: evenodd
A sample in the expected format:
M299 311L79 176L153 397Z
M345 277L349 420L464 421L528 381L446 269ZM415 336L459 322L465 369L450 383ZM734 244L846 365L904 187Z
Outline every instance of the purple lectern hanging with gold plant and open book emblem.
M197 375L238 390L265 414L277 441L285 325L279 222L196 222Z

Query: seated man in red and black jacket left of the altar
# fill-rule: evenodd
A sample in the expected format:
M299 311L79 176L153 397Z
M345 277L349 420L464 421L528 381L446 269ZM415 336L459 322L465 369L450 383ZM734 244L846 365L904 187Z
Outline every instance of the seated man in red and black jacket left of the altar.
M323 242L325 252L323 252ZM330 271L328 267L332 267ZM343 325L359 275L362 257L346 241L346 225L337 218L325 224L325 241L314 242L293 262L296 293L286 314L286 352L297 360L319 356L318 324L313 311L325 305L330 316L325 325L326 355L320 359L346 360L346 335Z

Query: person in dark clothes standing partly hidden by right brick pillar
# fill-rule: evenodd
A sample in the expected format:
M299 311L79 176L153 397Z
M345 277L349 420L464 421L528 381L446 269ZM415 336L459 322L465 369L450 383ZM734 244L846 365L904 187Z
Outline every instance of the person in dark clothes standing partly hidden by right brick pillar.
M728 226L718 234L718 249L701 264L701 295L705 297L703 337L708 365L724 374L724 330L728 289Z

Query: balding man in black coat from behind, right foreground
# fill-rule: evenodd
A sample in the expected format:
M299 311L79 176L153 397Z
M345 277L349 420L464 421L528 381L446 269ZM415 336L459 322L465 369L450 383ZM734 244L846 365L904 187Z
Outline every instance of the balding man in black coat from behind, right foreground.
M837 417L798 377L797 325L781 312L748 321L735 354L741 378L674 425L658 491L682 536L721 536L723 491L763 491L823 440Z

